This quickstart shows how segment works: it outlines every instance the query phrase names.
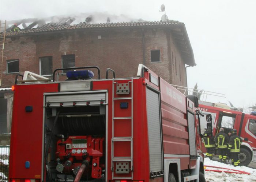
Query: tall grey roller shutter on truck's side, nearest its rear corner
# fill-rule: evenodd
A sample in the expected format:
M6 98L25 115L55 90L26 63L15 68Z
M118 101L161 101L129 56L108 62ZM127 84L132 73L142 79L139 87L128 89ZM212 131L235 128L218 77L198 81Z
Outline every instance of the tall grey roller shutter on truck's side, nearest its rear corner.
M159 94L147 88L147 123L150 172L162 171L162 133Z

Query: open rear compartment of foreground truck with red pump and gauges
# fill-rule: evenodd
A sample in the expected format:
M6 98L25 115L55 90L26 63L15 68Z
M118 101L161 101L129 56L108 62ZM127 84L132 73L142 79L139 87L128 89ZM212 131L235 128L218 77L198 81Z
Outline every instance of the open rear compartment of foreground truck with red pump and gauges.
M44 96L46 180L105 181L106 92Z

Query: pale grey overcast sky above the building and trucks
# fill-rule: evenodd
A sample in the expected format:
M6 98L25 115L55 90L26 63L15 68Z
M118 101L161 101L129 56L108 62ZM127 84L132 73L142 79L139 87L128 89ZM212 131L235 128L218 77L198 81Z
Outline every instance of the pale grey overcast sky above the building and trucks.
M256 103L256 1L254 0L1 0L2 20L106 12L148 21L185 23L196 60L189 67L188 86L226 94L236 107ZM136 72L136 70L135 70ZM219 100L215 100L218 102Z

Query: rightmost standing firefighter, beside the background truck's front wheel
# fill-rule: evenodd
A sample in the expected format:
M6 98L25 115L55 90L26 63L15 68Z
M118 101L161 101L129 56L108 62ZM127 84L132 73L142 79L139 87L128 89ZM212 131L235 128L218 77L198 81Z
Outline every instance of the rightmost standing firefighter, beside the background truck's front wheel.
M230 158L232 161L232 165L238 166L240 164L240 160L238 159L238 154L240 152L240 145L242 143L242 139L237 136L237 130L233 129L231 137L229 139L229 147L227 153L230 154Z

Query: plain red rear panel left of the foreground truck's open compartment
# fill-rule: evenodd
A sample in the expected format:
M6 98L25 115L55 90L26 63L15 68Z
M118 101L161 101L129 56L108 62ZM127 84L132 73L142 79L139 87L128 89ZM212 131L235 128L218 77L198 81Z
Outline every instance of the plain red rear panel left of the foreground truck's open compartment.
M9 178L41 178L43 94L57 90L58 84L15 85ZM33 111L26 112L26 106Z

